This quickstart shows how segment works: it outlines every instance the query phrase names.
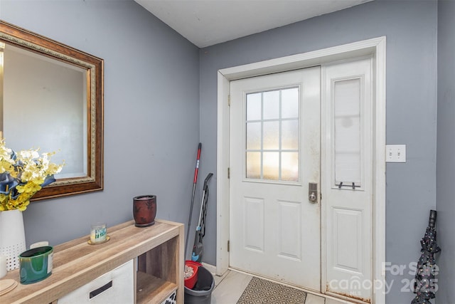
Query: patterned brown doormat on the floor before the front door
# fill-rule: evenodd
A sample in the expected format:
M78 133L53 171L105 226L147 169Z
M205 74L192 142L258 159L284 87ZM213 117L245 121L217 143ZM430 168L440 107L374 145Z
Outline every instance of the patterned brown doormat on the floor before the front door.
M303 304L304 291L253 277L237 304Z

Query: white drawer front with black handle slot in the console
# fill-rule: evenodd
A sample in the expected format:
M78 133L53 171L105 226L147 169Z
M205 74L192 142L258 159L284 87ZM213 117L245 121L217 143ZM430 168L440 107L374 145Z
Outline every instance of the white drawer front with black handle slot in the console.
M134 303L133 261L109 271L58 299L58 304Z

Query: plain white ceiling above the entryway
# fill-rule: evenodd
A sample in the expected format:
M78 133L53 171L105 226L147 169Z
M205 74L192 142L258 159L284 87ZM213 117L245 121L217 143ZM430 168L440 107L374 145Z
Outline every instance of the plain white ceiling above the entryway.
M134 0L199 48L372 0Z

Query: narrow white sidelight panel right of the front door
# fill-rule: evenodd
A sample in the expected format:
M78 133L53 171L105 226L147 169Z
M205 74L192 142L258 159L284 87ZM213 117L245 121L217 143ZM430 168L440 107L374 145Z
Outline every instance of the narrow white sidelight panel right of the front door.
M323 292L370 303L372 282L372 59L325 65Z

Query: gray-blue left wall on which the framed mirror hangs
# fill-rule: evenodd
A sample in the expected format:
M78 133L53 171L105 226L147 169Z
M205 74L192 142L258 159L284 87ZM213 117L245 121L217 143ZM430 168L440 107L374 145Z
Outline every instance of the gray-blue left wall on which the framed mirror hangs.
M132 0L1 0L0 19L105 60L105 189L32 203L27 243L56 245L89 234L94 221L130 220L140 194L156 194L157 217L188 221L198 48Z

